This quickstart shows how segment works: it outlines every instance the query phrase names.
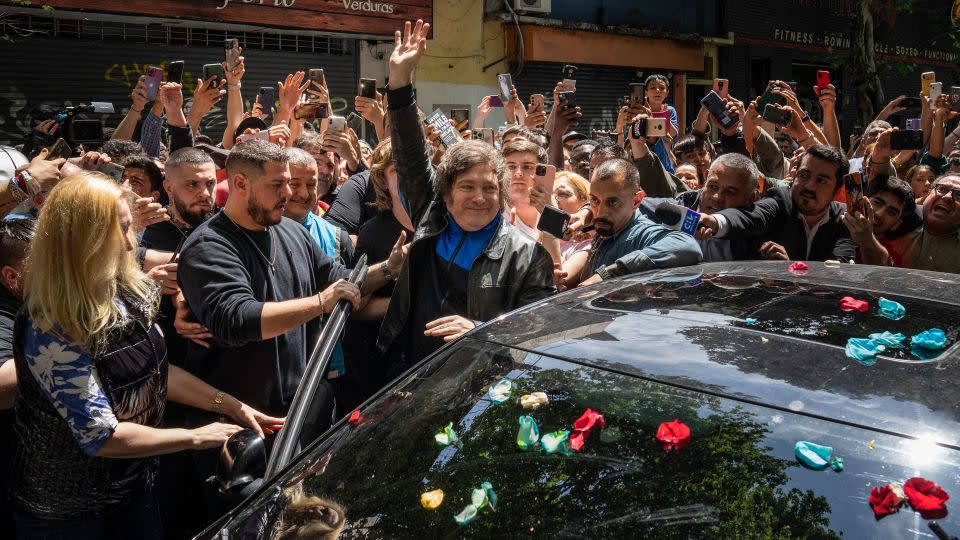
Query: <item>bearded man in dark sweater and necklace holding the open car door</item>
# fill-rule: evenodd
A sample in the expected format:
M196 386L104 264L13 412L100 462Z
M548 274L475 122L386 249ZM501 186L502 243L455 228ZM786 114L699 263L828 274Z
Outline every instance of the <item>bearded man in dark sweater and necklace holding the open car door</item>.
M233 148L226 163L227 204L187 238L178 274L186 305L212 335L207 354L191 358L188 369L275 416L287 414L322 315L340 300L357 309L361 294L344 279L346 267L323 253L302 225L283 217L292 195L288 163L283 149L267 141ZM385 285L385 276L399 273L402 264L397 245L386 262L371 266L363 291ZM317 394L320 430L329 425L332 395L323 381ZM216 454L196 454L201 477L213 473ZM213 491L211 514L223 510Z

